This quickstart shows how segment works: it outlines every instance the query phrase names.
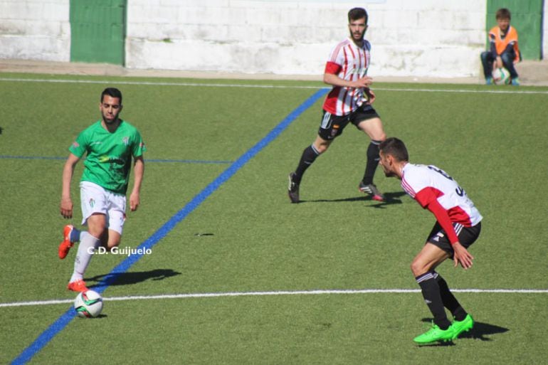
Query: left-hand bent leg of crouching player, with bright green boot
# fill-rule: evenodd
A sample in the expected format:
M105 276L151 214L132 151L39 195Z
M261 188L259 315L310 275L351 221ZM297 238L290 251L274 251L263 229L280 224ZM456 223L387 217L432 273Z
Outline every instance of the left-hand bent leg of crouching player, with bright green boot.
M432 243L426 243L423 249L413 259L411 271L421 287L424 302L433 315L433 326L428 332L413 339L418 344L428 344L436 341L453 339L453 327L447 318L443 307L441 291L436 281L434 269L449 257L446 251Z

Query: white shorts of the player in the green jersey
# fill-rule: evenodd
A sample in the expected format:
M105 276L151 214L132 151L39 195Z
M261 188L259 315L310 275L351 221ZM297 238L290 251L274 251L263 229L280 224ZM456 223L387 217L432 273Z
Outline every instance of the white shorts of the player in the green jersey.
M122 235L125 222L125 195L115 194L98 184L80 182L80 202L82 205L82 225L88 225L93 213L107 216L107 228Z

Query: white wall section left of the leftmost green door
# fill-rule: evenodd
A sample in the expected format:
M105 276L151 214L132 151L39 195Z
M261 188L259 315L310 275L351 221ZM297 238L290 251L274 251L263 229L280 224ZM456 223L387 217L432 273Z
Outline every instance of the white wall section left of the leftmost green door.
M69 0L1 0L0 58L70 60Z

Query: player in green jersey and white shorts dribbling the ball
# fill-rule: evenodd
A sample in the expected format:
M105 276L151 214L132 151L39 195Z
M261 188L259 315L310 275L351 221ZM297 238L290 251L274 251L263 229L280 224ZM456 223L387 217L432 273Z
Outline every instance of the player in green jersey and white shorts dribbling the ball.
M120 245L125 221L127 184L133 158L134 181L130 194L130 209L137 210L139 191L144 173L142 154L146 151L139 131L121 120L122 92L107 88L101 94L99 104L101 120L81 132L69 147L70 154L63 169L63 192L60 213L65 218L73 216L70 199L70 182L78 161L86 154L84 171L80 181L82 224L88 231L78 231L67 225L63 230L63 242L59 245L59 258L63 259L80 241L74 263L74 272L68 282L68 290L85 292L83 275L91 257L100 245L110 250Z

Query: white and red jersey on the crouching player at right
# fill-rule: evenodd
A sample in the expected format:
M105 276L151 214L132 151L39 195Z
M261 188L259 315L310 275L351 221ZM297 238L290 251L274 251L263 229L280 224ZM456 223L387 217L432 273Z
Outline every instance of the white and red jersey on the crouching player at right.
M446 210L452 223L465 227L480 223L482 216L463 188L446 171L430 165L406 164L401 187L423 208L433 200Z

